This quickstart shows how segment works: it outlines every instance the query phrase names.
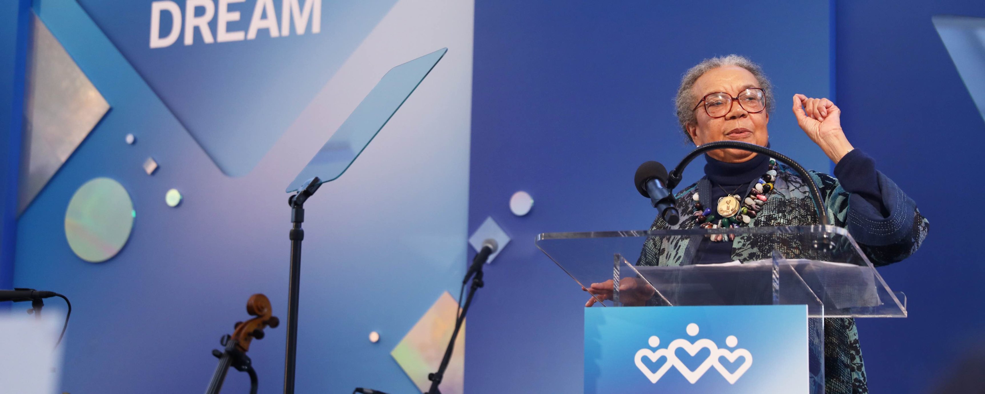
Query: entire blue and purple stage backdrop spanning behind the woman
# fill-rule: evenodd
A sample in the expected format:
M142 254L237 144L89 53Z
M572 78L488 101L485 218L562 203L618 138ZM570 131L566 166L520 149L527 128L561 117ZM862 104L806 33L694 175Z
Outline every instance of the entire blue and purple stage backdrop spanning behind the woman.
M13 12L17 7L8 3L4 11ZM740 53L761 63L777 88L770 119L775 149L829 169L787 102L794 93L832 97L851 142L876 158L931 221L921 251L881 269L892 289L909 296L910 316L859 321L872 391L929 391L967 349L981 345L985 332L976 306L985 296L977 286L985 268L975 263L980 242L971 219L975 196L985 191L975 182L985 122L931 17L985 18L985 5L832 3L477 1L474 55L471 45L458 52L435 45L431 50L448 46L449 53L428 79L461 56L446 69L454 80L431 91L426 80L415 93L432 103L455 92L445 104L471 106L471 137L467 108L449 125L424 111L425 102L410 100L401 112L410 109L416 120L393 129L403 132L384 129L360 159L363 166L309 203L299 388L411 392L389 351L441 292L456 289L465 238L492 216L513 241L487 267L487 287L469 314L467 391L580 392L585 295L536 249L534 236L646 228L654 213L629 177L643 161L674 164L689 150L672 104L681 73L702 58ZM66 391L200 390L215 365L209 350L244 317L247 296L266 293L283 317L289 218L280 191L320 146L314 136L324 130L312 126L320 118L302 111L308 120L289 128L253 172L230 178L79 4L35 0L33 10L112 109L20 218L13 285L58 290L75 301ZM19 14L18 29L10 26L12 14L2 14L0 124L8 142L18 141L7 127L17 116L5 116L20 110L14 34L26 29L28 14ZM472 21L456 29L473 32ZM473 42L469 34L457 38ZM407 59L416 57L407 52ZM471 85L462 83L467 69ZM343 107L363 95L351 96ZM11 107L17 109L8 112ZM335 112L338 122L348 114ZM138 144L127 147L123 136L131 132ZM11 152L7 144L0 154ZM140 168L148 156L162 164L153 177ZM9 167L0 171L5 185L10 176ZM129 243L102 265L78 260L62 230L72 192L95 176L119 179L137 209ZM378 176L385 182L373 180ZM170 187L186 195L177 210L164 206ZM392 190L408 190L412 198L394 204ZM509 213L507 201L517 190L536 200L526 217ZM2 191L6 196L10 189ZM6 209L14 204L0 202ZM11 223L9 215L4 219ZM2 243L0 253L3 268L14 254ZM280 387L281 330L251 350L264 392ZM371 330L383 335L379 346L365 341ZM230 378L228 390L244 389L240 377Z

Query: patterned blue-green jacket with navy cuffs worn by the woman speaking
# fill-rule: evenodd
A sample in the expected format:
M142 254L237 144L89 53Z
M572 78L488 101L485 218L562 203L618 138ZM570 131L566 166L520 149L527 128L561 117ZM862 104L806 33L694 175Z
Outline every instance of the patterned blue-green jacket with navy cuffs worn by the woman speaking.
M885 209L865 201L862 196L845 191L838 179L821 172L811 171L811 176L821 191L828 223L849 231L859 247L875 266L884 266L909 257L927 236L929 224L920 215L913 202L882 172L877 172L882 203ZM703 178L702 178L703 180ZM692 211L692 196L698 191L698 181L677 194L678 210ZM707 182L704 182L706 185ZM817 210L807 184L792 170L781 164L762 211L751 223L755 227L817 225ZM705 186L707 187L707 186ZM685 215L678 226L670 227L659 217L651 230L692 229L695 218ZM688 237L673 239L648 239L640 253L639 265L681 265L690 261L699 242ZM769 258L773 250L779 250L788 258L810 258L799 245L776 237L753 235L737 236L732 244L732 258L739 261L755 261ZM689 264L689 263L685 263ZM811 319L812 324L821 324ZM812 393L822 378L826 393L868 393L865 364L859 346L858 330L851 318L823 319L824 325L824 373L812 370ZM815 343L816 344L816 343ZM820 345L818 346L820 347ZM815 350L821 352L821 349Z

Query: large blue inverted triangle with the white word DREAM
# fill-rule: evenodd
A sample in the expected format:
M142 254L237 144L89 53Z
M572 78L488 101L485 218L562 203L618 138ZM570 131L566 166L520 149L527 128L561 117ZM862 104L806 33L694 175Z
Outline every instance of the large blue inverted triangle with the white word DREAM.
M240 176L259 163L396 0L78 2L213 162L227 175ZM282 33L284 2L296 4L292 11L300 16L306 4L311 7L306 19L287 13L287 34ZM224 4L224 19L230 20L226 31L234 38L242 32L244 39L220 42ZM208 16L210 8L213 17L206 26L212 42L207 43L206 30L189 30L187 22L188 15ZM232 13L238 13L238 20L230 18ZM158 29L153 31L155 15ZM319 32L313 33L316 18ZM271 19L267 26L276 25L276 30L256 29L252 39L245 39L251 25ZM298 19L304 21L304 33L297 32ZM152 47L155 35L160 41L173 27L177 35L172 43ZM187 36L191 44L185 44Z

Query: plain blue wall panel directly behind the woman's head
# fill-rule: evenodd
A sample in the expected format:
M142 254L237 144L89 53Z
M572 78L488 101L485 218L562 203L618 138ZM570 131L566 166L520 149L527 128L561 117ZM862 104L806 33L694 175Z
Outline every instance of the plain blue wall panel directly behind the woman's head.
M689 151L673 99L701 59L761 63L777 88L773 147L828 169L790 110L794 93L829 94L828 11L826 2L477 2L469 229L493 216L512 242L469 313L470 394L581 392L586 296L534 236L649 227L654 211L630 180L644 161L673 165ZM517 190L536 200L526 217L509 213Z

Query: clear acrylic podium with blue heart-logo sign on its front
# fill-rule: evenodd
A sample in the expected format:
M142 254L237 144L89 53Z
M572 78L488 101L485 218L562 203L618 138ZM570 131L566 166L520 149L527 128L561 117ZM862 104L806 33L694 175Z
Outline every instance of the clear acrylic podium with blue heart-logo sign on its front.
M697 264L712 236L739 261ZM906 317L833 226L546 232L537 247L579 289L614 289L585 311L586 393L823 393L822 319Z

